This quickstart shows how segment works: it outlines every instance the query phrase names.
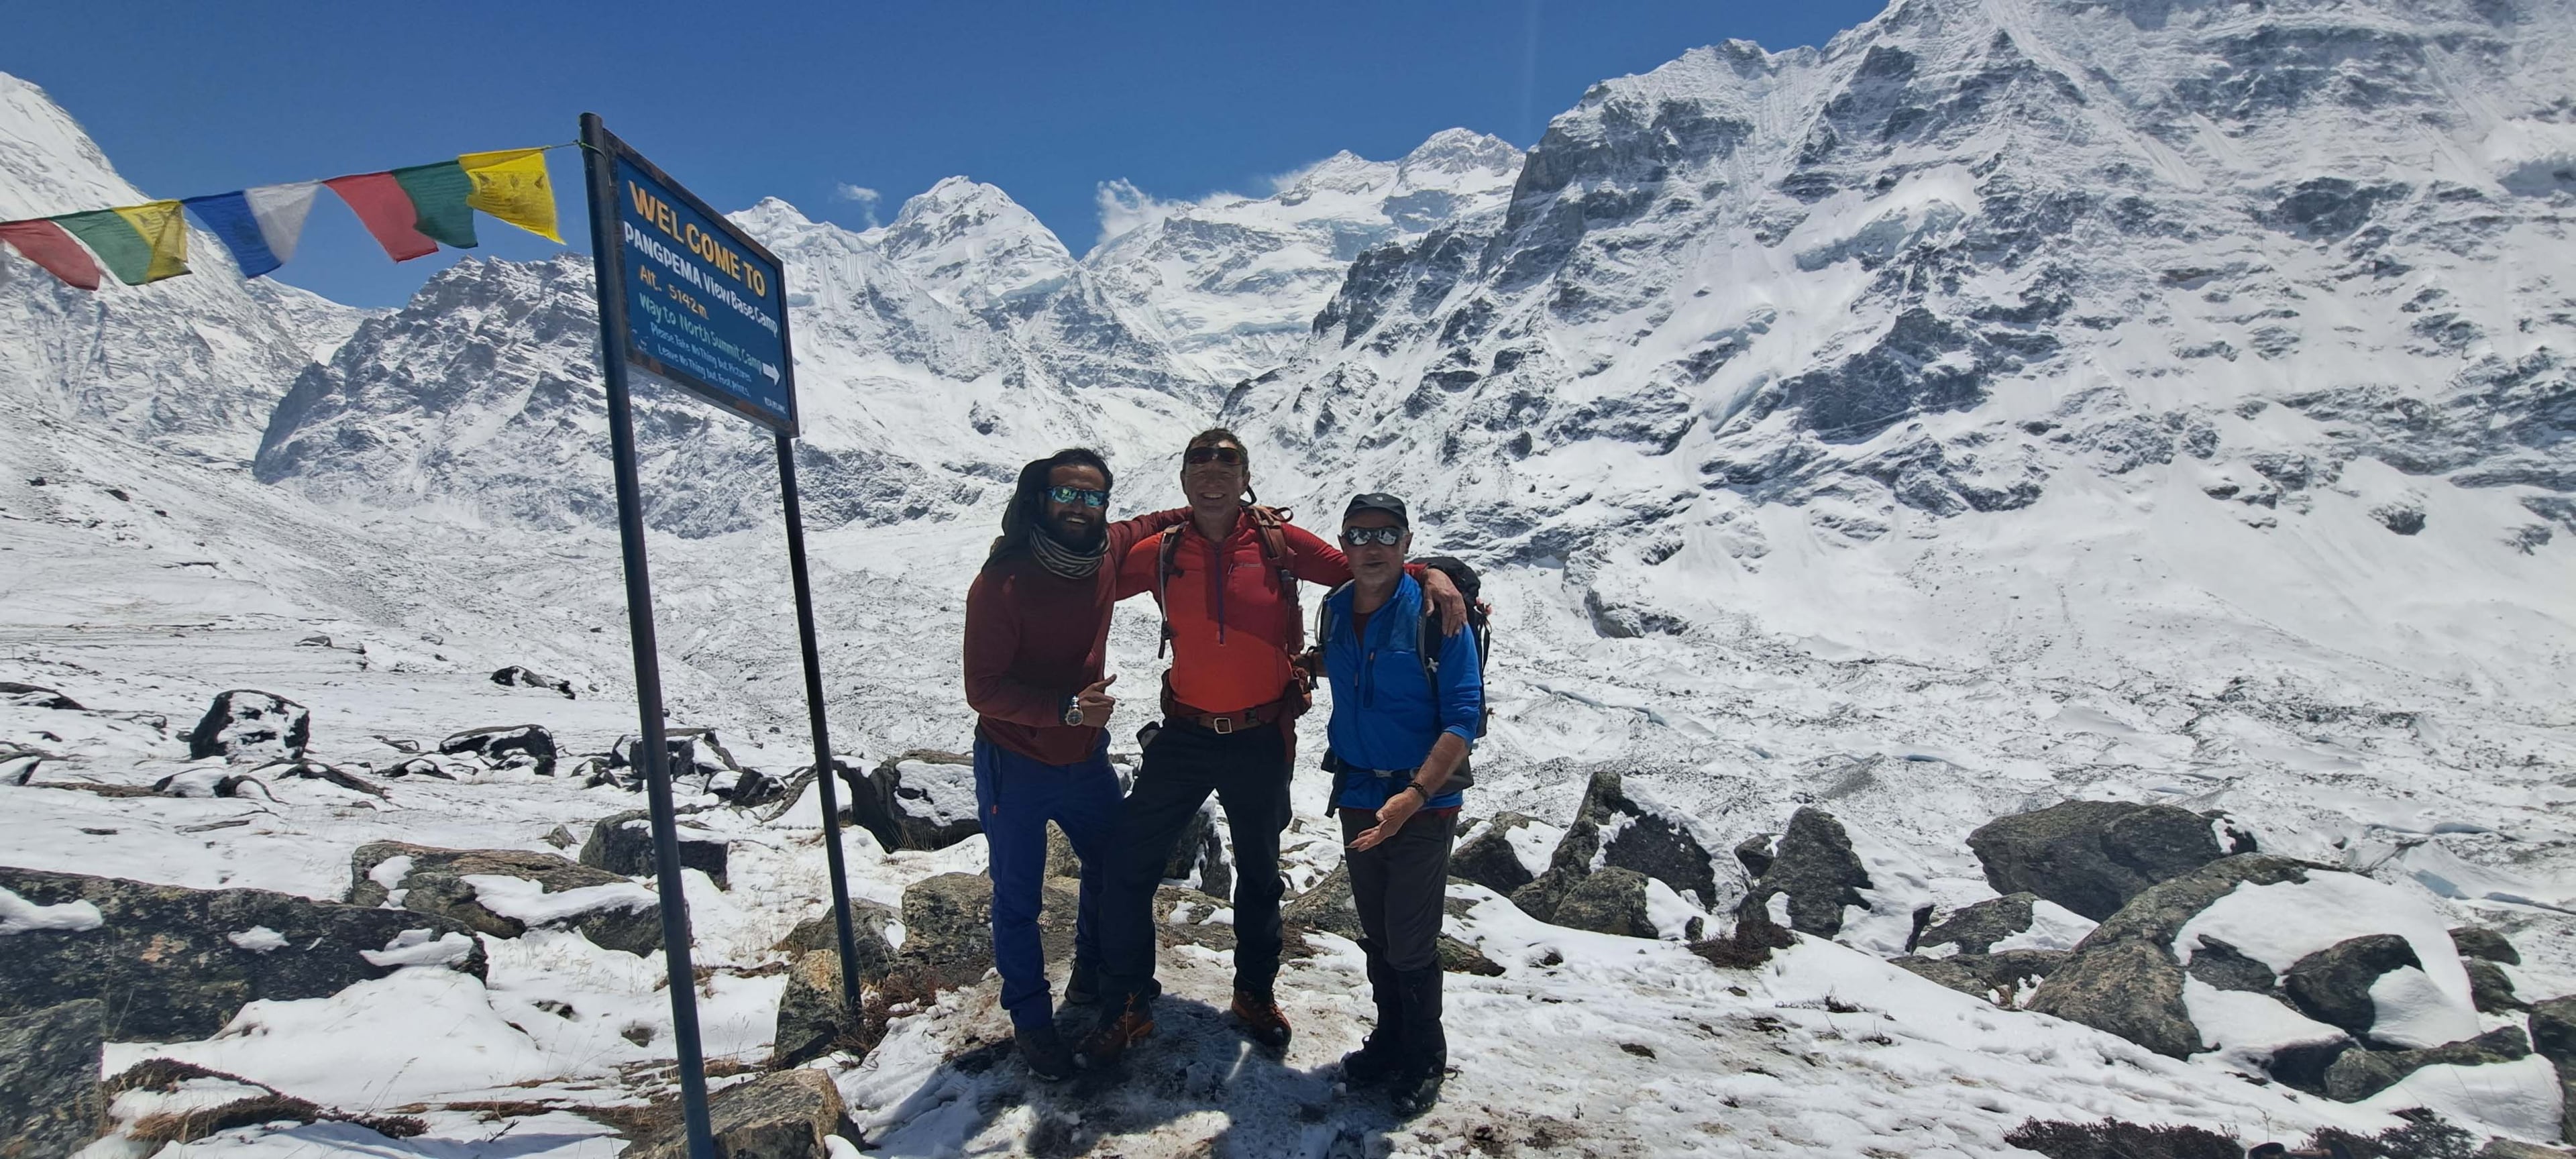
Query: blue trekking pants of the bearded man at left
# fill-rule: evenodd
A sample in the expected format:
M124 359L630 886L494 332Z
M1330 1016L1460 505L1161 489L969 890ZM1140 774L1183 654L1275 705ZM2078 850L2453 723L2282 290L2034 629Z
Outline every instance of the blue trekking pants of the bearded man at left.
M1074 912L1074 963L1100 961L1100 868L1118 829L1118 773L1110 739L1074 765L1043 765L984 737L974 739L974 801L992 850L992 963L1002 971L1002 1010L1012 1025L1054 1020L1038 907L1046 881L1046 822L1056 822L1082 860ZM1097 868L1095 868L1097 865Z

